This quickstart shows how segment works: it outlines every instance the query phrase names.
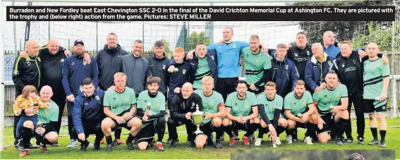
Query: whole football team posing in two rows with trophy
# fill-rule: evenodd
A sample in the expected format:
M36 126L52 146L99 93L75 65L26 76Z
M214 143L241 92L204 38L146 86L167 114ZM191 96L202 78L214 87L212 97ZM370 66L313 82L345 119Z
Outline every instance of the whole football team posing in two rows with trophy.
M222 35L220 42L198 43L187 53L177 47L171 58L162 41L145 56L143 41L135 40L129 54L114 33L95 57L87 54L82 39L75 40L73 51L57 39L43 47L28 40L13 67L19 156L30 155L35 145L42 153L49 152L47 145L61 146L65 106L70 143L62 145L81 152L88 147L112 152L121 144L128 150L164 151L163 145L183 143L181 125L190 147L199 149L238 142L279 147L282 133L286 144L300 141L298 128L306 130L305 145L332 140L386 147L389 59L377 44L355 49L349 41L336 42L331 31L321 35L323 42L309 43L306 33L298 32L295 43L268 49L257 35L248 42L232 41L231 27ZM352 137L352 110L357 137ZM365 114L372 133L368 142ZM124 140L123 128L129 130Z

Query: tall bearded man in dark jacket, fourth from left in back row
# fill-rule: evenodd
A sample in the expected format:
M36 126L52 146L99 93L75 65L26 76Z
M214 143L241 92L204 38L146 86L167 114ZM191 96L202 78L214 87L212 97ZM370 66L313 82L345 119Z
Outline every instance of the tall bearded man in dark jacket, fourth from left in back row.
M99 87L101 90L107 90L114 85L114 74L119 72L121 56L128 54L118 44L118 37L114 33L107 35L107 44L104 49L96 54L97 66L99 66ZM121 140L121 128L115 130L114 145L125 143Z

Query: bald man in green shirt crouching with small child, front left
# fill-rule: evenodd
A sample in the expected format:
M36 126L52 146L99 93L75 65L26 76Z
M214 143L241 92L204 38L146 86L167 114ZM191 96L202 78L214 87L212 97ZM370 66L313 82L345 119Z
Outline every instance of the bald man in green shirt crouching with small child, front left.
M56 124L59 119L59 106L50 99L51 96L53 96L51 87L48 85L42 87L42 90L40 90L40 100L42 102L50 102L49 109L40 109L39 113L37 113L39 122L43 124L42 127L34 128L32 121L25 121L25 123L23 123L22 136L24 149L20 152L20 157L30 154L29 142L33 135L37 135L37 142L40 142L40 152L44 154L48 152L46 144L54 144L57 142L59 135L56 132ZM25 110L25 113L30 112L32 112L32 109Z

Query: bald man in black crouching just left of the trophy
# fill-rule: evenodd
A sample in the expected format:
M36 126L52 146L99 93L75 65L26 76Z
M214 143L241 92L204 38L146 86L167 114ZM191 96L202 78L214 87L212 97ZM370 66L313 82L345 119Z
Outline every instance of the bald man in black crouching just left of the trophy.
M186 82L183 84L181 92L176 94L171 100L171 118L168 120L171 147L176 147L178 144L176 127L180 125L186 125L190 147L195 147L194 131L196 130L196 126L193 124L191 117L192 113L196 111L196 106L202 111L202 99L198 94L193 92L192 84Z

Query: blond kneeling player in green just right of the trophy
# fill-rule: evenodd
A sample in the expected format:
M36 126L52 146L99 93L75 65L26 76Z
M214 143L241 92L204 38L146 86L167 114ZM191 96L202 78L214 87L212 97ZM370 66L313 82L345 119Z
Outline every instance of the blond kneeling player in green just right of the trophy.
M200 125L200 130L204 135L196 136L196 147L203 148L207 142L212 145L212 132L217 134L215 139L215 147L221 148L221 136L224 134L222 129L222 118L225 117L225 104L222 95L212 90L214 88L214 79L210 76L202 78L202 90L195 90L202 99L202 111L205 113L205 119Z

